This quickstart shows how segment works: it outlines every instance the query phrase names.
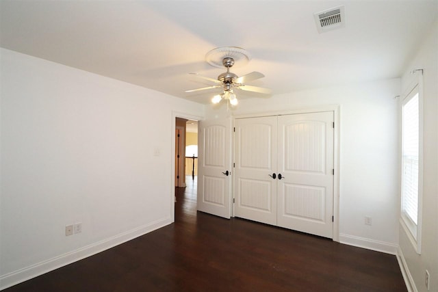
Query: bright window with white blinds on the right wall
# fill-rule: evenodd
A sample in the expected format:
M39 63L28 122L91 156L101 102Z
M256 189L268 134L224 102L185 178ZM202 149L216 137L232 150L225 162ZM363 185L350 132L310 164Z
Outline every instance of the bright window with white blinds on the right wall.
M422 194L422 123L420 84L402 101L401 223L420 254Z

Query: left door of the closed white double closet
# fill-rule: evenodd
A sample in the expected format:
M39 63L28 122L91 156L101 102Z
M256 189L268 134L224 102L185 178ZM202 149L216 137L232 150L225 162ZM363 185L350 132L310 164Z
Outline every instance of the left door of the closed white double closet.
M276 116L235 120L236 217L276 225L276 123Z

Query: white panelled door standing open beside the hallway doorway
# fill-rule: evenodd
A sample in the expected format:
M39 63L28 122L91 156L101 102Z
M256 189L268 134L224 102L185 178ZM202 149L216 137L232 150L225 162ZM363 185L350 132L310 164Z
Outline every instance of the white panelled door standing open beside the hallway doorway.
M231 120L199 121L198 211L231 215Z

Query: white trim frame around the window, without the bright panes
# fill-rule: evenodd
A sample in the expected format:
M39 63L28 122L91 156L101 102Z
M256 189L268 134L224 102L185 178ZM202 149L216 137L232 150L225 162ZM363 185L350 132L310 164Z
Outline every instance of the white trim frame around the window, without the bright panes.
M400 103L400 115L402 115L403 105L405 105L415 94L411 94L413 90L418 91L418 106L419 106L419 139L418 139L418 213L417 224L411 220L409 216L404 214L403 211L403 199L402 199L402 180L403 170L400 172L400 224L406 233L409 241L411 241L413 248L417 254L422 252L422 210L423 210L423 76L422 70L415 73L416 78L411 83L407 90L407 94L403 95L402 102ZM400 119L402 121L402 119ZM400 123L400 133L402 131L402 122ZM402 135L400 135L400 145L402 148ZM400 158L402 159L402 149L400 150ZM403 168L403 163L400 163Z

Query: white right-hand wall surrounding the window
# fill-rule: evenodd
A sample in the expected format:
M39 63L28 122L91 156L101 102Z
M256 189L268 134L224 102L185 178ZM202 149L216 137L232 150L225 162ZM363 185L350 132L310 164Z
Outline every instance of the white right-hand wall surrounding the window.
M419 68L424 69L422 254L415 252L401 226L400 251L417 291L427 291L426 269L431 277L430 291L438 291L438 21L428 31L402 76L404 91L414 78L411 70Z

